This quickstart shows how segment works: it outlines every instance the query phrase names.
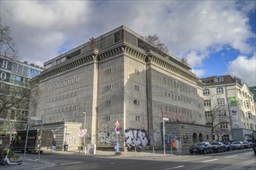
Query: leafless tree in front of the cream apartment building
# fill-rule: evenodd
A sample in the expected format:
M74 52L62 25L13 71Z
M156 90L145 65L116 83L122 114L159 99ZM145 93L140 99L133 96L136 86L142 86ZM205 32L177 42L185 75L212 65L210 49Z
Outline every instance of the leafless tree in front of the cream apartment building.
M229 132L227 126L230 124L230 114L227 105L223 103L220 95L209 95L205 100L206 125L211 127L211 134L220 136L220 132Z

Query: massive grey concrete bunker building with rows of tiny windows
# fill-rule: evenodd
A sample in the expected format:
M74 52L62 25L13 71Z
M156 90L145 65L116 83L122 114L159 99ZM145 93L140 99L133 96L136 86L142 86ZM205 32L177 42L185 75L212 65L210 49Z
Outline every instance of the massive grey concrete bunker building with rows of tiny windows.
M30 102L29 114L43 115L45 126L80 122L88 143L97 145L162 145L161 123L166 117L167 123L184 122L182 128L193 125L189 132L175 129L189 145L192 136L200 134L194 141L209 136L201 80L180 59L149 46L126 26L92 38L44 66L31 81L39 95ZM64 131L68 133L66 127ZM74 140L65 142L71 145Z

